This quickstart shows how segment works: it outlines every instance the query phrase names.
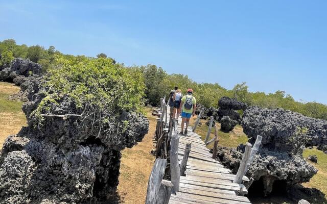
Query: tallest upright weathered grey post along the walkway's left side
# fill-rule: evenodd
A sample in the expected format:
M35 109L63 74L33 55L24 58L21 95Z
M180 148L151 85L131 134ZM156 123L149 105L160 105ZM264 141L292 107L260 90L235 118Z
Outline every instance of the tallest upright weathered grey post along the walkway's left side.
M170 177L173 187L173 193L179 191L179 177L180 177L180 168L178 162L178 143L179 143L179 135L177 130L177 122L173 120L174 123L174 133L171 138L171 146L170 146Z

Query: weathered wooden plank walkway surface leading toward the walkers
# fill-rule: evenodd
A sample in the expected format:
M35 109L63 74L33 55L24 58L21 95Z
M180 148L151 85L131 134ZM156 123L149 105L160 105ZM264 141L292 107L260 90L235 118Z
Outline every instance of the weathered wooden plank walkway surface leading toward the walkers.
M170 107L167 107L168 123ZM180 132L181 117L178 119L178 133ZM204 124L203 124L204 125ZM213 204L250 204L247 197L239 196L247 189L243 184L232 183L235 175L223 165L212 159L212 154L201 140L201 136L192 132L189 126L188 134L179 134L178 157L181 162L186 143L191 142L191 151L186 163L186 176L180 176L179 192L170 197L170 204L175 203L213 203ZM243 176L243 181L248 181Z

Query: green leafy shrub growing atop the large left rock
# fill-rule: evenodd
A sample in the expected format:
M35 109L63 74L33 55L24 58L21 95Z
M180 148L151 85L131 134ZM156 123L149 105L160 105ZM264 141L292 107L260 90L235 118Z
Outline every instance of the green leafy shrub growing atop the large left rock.
M87 106L96 110L102 123L116 122L122 110L143 112L145 86L138 69L114 64L111 59L84 56L71 60L57 56L54 65L57 68L50 69L45 77L46 97L32 113L38 122L42 122L41 113L64 96L72 99L78 109Z

